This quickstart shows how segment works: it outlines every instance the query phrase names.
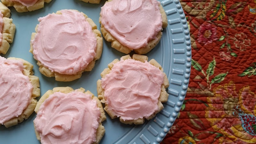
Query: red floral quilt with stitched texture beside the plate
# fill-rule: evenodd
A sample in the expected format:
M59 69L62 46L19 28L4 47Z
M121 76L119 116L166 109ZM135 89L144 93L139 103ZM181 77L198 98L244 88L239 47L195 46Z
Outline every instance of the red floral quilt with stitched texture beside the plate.
M161 144L256 144L256 0L180 0L192 44L188 92Z

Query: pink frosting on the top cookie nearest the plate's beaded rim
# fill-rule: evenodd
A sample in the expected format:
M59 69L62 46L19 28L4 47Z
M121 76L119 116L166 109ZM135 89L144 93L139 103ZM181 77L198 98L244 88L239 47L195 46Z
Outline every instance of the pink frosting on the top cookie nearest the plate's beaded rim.
M131 49L146 46L163 25L157 0L113 0L101 7L100 14L105 29Z

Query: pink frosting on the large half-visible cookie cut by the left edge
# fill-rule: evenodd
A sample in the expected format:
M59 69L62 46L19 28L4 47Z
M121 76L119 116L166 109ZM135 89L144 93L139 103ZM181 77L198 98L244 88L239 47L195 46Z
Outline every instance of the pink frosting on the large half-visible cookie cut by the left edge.
M22 61L0 56L0 123L21 115L30 103L33 86L24 76Z

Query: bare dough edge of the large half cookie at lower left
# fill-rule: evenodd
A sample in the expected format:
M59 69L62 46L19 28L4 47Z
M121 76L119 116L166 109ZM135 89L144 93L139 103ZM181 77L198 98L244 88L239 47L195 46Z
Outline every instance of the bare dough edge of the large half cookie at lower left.
M30 103L28 104L28 107L23 110L20 116L14 117L10 119L9 121L6 121L4 123L5 127L10 127L13 125L17 125L21 122L24 121L24 119L28 119L28 117L34 112L34 109L37 104L37 100L35 99L36 97L40 96L40 85L39 85L39 78L37 76L33 76L34 72L33 70L33 65L29 63L26 60L20 59L20 58L8 58L8 60L20 60L23 62L24 65L24 70L23 70L23 75L28 76L30 83L33 86L33 91L30 99Z

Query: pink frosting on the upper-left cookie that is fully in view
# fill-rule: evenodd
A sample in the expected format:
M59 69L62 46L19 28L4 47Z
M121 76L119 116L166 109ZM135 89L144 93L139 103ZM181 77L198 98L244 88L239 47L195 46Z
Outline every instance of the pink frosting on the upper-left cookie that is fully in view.
M39 18L33 54L45 67L60 74L84 70L96 55L97 40L92 27L77 11L61 10Z

